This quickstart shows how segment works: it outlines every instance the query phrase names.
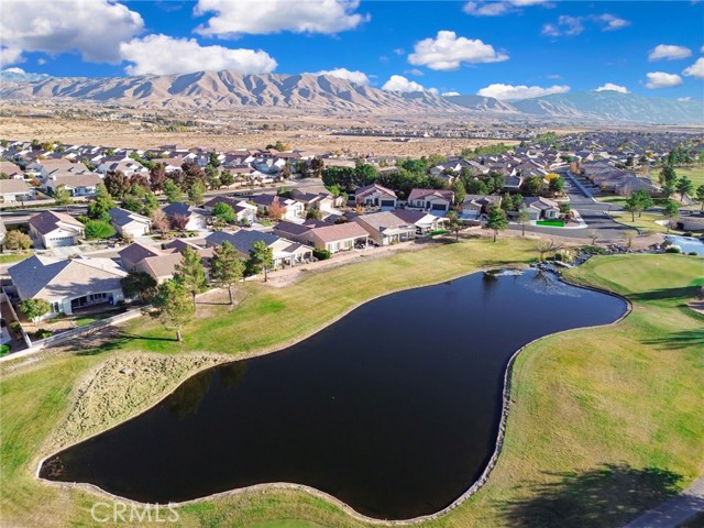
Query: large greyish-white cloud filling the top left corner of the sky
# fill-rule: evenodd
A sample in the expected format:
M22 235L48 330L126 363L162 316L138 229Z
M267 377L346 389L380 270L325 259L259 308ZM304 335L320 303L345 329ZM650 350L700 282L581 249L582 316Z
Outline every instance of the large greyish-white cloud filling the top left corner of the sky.
M120 44L144 29L140 13L111 0L33 0L7 8L0 16L2 54L13 51L13 62L18 52L78 51L85 61L119 63Z

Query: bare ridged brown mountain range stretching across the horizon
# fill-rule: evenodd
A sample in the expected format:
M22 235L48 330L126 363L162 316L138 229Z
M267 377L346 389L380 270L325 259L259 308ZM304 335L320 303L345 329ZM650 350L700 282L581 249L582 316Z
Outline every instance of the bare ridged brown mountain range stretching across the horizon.
M311 112L469 113L490 119L550 119L634 123L703 123L704 101L676 101L617 91L552 95L519 101L482 96L402 94L329 75L198 72L110 78L0 74L0 98L79 99L132 108L292 108Z

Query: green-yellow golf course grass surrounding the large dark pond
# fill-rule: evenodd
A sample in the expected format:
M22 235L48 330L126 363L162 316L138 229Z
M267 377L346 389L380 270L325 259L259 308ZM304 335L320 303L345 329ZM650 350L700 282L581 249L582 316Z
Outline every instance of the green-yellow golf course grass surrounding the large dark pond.
M388 290L535 256L528 241L472 240L311 274L286 288L248 284L235 310L215 308L186 329L182 350L237 356L274 346ZM704 261L595 257L569 276L628 296L632 314L617 326L550 337L519 355L498 465L473 498L426 526L618 526L704 473L704 318L684 307L697 279L704 282ZM2 526L94 525L90 506L105 496L43 485L33 471L89 369L123 350L175 352L173 342L151 340L167 336L152 321L140 319L128 331L142 339L3 375ZM179 514L179 526L364 526L294 491L233 495Z

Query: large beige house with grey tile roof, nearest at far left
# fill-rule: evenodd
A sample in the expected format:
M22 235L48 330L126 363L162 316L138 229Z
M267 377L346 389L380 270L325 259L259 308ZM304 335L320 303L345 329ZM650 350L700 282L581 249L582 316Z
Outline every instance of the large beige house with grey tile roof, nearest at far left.
M123 300L120 279L127 273L111 258L56 260L31 256L8 270L21 300L44 299L51 314L73 314Z

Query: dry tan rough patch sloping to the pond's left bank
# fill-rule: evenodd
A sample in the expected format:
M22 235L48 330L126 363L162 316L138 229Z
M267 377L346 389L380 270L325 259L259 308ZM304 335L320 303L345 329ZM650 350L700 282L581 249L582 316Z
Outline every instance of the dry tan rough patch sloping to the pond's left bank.
M42 451L58 451L136 416L196 372L228 361L232 356L212 353L111 358L86 373L75 389L68 415Z

